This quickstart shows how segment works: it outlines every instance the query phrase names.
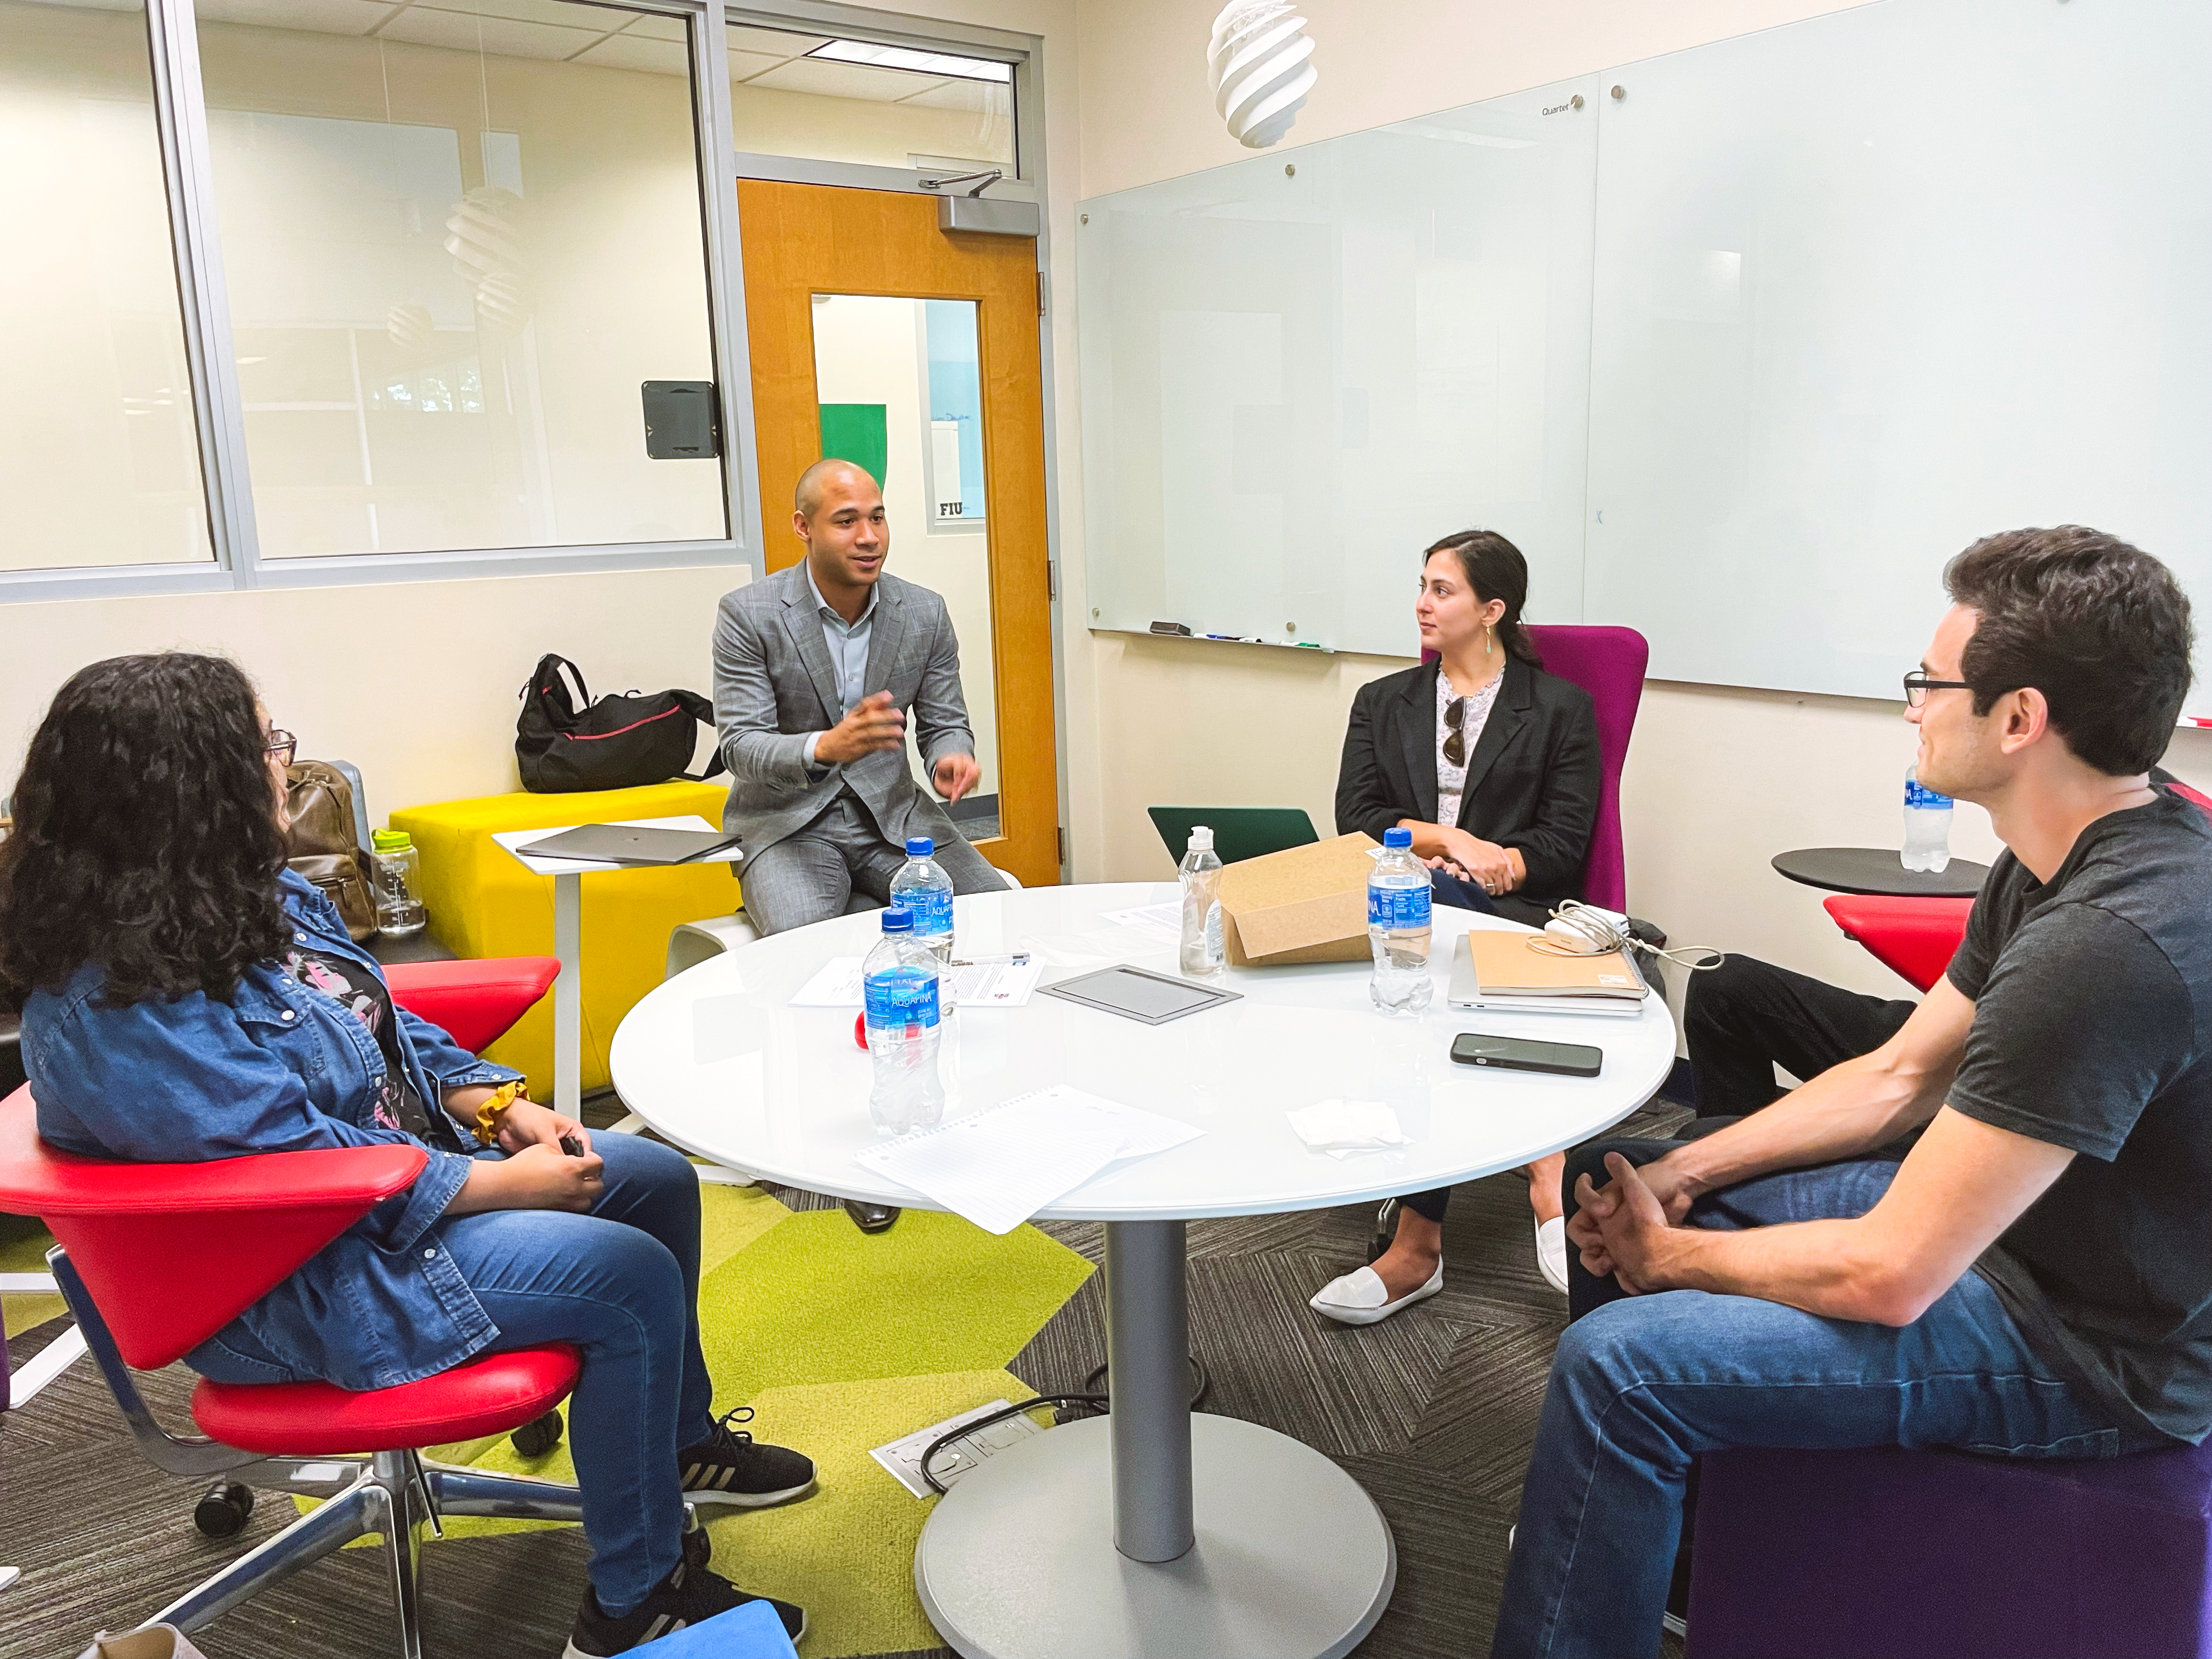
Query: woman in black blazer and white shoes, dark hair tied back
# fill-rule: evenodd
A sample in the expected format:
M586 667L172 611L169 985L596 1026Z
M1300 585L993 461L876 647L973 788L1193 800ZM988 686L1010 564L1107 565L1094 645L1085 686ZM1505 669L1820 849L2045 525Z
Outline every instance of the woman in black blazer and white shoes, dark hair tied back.
M1363 686L1336 772L1336 834L1411 830L1436 900L1542 927L1582 898L1597 825L1597 710L1544 666L1522 628L1528 562L1495 531L1460 531L1422 562L1413 617L1436 661ZM1566 1225L1553 1155L1528 1166L1537 1265L1566 1290ZM1396 1199L1396 1234L1371 1267L1332 1281L1312 1307L1374 1325L1444 1287L1451 1188Z

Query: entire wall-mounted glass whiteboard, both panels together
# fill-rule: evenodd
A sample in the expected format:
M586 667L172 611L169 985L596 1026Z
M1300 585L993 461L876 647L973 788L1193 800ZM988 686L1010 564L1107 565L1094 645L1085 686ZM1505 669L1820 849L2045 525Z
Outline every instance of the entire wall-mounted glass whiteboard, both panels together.
M1411 655L1467 524L1657 679L1896 699L2022 524L2212 599L2203 64L1885 0L1082 204L1091 626Z

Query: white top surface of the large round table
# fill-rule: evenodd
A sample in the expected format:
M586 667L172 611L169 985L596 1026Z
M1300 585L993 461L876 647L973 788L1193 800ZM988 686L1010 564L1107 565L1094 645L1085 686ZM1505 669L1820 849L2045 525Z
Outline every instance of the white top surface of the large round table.
M1029 949L1044 984L1113 962L1175 973L1157 933L1104 911L1172 900L1172 883L1031 887L956 900L958 951ZM960 1009L938 1051L945 1117L1048 1084L1179 1117L1203 1128L1157 1157L1075 1188L1040 1214L1055 1221L1172 1221L1274 1214L1385 1199L1515 1168L1621 1121L1666 1082L1674 1022L1663 998L1635 1018L1464 1013L1444 1002L1453 940L1469 927L1520 929L1436 907L1436 998L1420 1018L1367 1000L1367 962L1228 969L1241 1002L1146 1026L1035 995L1022 1009ZM807 1192L927 1208L854 1164L874 1141L869 1057L852 1040L854 1009L794 1009L792 993L832 956L860 956L880 914L838 916L726 956L657 987L615 1031L615 1088L666 1139ZM1458 1031L1604 1051L1597 1077L1458 1066ZM1310 1152L1285 1110L1338 1095L1396 1108L1413 1146L1329 1157Z

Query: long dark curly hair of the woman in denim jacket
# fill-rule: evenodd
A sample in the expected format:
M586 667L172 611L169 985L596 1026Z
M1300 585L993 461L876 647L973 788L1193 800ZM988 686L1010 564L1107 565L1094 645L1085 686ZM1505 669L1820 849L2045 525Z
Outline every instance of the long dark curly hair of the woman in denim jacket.
M86 962L106 1002L206 991L283 953L285 847L243 670L168 650L80 668L38 723L0 841L0 1002Z

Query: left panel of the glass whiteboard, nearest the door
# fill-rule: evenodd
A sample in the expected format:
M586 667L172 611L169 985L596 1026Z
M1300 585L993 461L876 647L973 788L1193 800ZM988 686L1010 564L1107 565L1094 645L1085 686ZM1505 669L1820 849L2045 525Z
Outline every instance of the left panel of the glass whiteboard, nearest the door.
M1597 91L1082 204L1091 626L1411 655L1475 524L1579 619Z

